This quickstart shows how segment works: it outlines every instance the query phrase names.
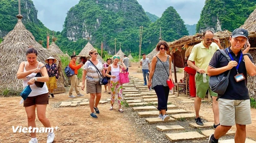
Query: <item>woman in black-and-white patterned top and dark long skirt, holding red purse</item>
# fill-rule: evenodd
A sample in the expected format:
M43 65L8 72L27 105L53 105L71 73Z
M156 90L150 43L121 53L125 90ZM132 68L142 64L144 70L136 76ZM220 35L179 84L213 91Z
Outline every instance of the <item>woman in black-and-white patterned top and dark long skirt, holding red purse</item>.
M170 116L166 114L167 111L167 100L170 89L167 85L166 80L170 79L172 82L171 75L171 56L165 52L169 51L169 46L165 41L160 41L156 46L156 51L160 51L156 54L151 63L151 70L149 74L148 87L152 85L152 89L155 90L158 99L159 117L163 121L170 119ZM152 84L151 84L152 80Z

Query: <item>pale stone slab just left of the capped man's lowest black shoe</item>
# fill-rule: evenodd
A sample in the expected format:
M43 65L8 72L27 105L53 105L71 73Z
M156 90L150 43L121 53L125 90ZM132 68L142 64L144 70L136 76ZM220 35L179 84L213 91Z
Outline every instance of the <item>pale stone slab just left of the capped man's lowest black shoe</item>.
M198 132L181 132L181 133L172 133L172 134L168 133L168 134L165 134L165 136L171 142L205 139L205 136L199 134Z

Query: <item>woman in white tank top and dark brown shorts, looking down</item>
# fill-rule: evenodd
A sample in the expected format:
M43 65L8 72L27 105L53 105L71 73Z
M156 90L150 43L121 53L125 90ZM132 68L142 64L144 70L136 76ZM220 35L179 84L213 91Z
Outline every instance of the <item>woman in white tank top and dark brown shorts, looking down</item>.
M17 78L23 79L23 88L30 85L32 92L28 95L26 100L24 100L23 106L25 107L27 113L28 127L36 127L35 118L37 109L37 117L39 121L44 125L44 127L51 127L51 123L46 118L46 107L49 104L48 98L48 88L46 83L49 80L46 67L44 64L37 61L37 50L35 48L28 48L26 52L27 61L23 61L18 69ZM42 67L44 66L44 67ZM39 67L42 67L39 69ZM41 73L42 77L35 77L37 73ZM42 88L37 87L34 83L44 82ZM31 140L29 143L37 143L36 133L30 133ZM47 135L47 143L52 143L54 140L54 133L50 132Z

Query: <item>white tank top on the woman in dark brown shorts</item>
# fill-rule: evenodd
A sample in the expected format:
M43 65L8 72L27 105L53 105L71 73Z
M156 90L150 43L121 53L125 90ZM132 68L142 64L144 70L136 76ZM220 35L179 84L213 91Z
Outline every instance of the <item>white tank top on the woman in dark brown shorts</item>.
M25 69L26 64L27 64L27 61L25 62L23 72L26 72L26 69ZM38 65L37 65L37 68L39 67L40 64L41 63L39 62ZM23 89L27 86L27 82L31 78L34 78L36 75L37 75L36 73L32 73L32 74L27 75L25 78L23 78ZM30 97L48 93L48 88L46 86L46 83L44 83L42 88L38 88L35 84L30 85L30 88L32 90L32 92L28 95Z

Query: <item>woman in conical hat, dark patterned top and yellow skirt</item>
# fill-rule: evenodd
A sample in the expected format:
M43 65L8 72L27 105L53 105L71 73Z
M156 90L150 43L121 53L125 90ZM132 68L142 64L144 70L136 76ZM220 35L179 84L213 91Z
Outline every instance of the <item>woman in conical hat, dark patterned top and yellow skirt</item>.
M58 68L57 68L57 65L55 64L56 61L57 60L51 56L45 60L45 62L47 63L45 66L49 76L49 81L46 82L46 85L49 91L49 96L48 96L49 98L50 98L50 95L52 96L52 98L54 98L53 89L57 88L57 80L59 78Z

